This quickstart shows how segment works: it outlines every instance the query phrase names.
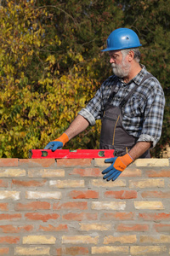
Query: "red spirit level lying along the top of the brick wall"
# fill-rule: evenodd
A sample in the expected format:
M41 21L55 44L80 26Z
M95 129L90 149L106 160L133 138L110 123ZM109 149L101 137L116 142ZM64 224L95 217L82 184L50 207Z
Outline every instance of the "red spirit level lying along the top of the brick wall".
M114 157L114 149L31 149L29 158L111 158Z

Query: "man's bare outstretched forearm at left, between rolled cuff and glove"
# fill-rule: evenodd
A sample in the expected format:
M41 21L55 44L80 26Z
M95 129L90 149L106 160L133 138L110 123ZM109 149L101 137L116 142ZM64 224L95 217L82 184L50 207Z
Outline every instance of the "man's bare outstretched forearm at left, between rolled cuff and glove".
M88 120L84 119L82 115L78 114L65 133L69 137L69 140L71 140L71 138L76 137L79 133L84 131L88 125Z

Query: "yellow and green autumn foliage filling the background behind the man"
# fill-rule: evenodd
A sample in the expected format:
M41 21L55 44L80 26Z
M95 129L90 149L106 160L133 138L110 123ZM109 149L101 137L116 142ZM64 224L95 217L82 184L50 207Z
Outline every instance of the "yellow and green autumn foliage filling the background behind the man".
M169 0L1 4L0 157L26 158L65 131L111 75L101 49L117 27L138 32L142 62L169 91ZM170 137L168 99L159 148ZM100 121L66 148L99 148L99 131Z

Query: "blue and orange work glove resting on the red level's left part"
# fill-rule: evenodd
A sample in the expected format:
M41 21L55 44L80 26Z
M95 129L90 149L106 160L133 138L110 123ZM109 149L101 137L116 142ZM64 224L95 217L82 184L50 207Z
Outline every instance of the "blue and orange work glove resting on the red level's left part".
M69 141L69 137L67 136L66 133L63 133L56 140L48 143L47 146L45 146L45 148L43 149L51 149L54 152L56 149L63 148L65 146L65 143L67 143L68 141Z

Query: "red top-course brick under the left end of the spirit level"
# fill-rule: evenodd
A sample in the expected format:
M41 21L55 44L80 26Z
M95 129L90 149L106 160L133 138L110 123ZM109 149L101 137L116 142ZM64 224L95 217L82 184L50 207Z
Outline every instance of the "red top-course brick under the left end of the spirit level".
M49 167L56 164L55 159L20 159L20 166L26 165L28 167Z

